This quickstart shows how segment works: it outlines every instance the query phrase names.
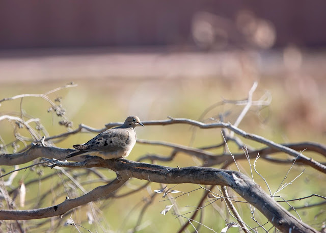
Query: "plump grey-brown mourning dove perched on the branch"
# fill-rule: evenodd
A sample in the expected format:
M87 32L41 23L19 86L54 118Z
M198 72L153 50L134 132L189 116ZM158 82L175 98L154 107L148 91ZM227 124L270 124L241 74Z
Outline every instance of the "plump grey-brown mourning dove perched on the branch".
M66 158L84 154L97 155L103 159L126 158L136 143L137 125L144 126L139 117L128 116L123 125L103 131L85 144L73 145L76 151L68 154Z

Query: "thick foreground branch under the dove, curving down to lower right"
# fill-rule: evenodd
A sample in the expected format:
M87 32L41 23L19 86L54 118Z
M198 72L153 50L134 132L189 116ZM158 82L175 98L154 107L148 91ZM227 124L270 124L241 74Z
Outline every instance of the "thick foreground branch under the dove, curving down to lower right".
M106 167L116 172L124 171L128 176L164 184L192 183L201 185L224 185L231 187L256 208L278 229L284 232L317 232L287 212L262 188L246 175L223 169L204 167L171 168L124 159L103 160L90 158L86 167ZM59 162L64 165L65 163ZM67 167L69 163L66 164Z

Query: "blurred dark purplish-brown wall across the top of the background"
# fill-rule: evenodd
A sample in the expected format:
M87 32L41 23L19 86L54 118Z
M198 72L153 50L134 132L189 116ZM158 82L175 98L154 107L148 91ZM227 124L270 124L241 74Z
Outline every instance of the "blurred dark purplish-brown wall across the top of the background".
M326 45L319 0L1 0L0 48L194 44L196 12L234 20L242 9L275 25L276 46Z

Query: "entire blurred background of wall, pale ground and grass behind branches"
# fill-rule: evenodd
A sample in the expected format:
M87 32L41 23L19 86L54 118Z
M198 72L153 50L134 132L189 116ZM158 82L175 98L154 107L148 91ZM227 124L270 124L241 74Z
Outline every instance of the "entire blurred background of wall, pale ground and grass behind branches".
M105 123L123 121L131 114L138 115L141 120L166 119L168 115L197 120L208 107L223 99L247 98L253 82L258 81L254 100L264 94L271 96L272 100L268 107L259 111L252 107L239 125L242 130L278 143L324 143L326 32L322 26L326 16L321 9L325 9L326 4L322 1L232 2L2 1L0 99L18 94L44 93L73 81L77 87L49 96L52 100L62 98L60 104L66 109L65 116L73 122L72 128L80 123L102 128ZM41 98L25 97L22 102L20 99L2 102L0 114L20 116L22 108L26 115L40 118L50 135L66 132L66 127L58 124L61 119L47 111L49 107L49 103ZM202 120L228 113L224 120L233 123L242 108L223 104L209 111ZM11 144L15 139L14 126L14 122L0 122L0 136L5 142L3 144L7 144L7 150L3 146L2 152L24 147L22 143L18 143L16 148ZM18 132L28 136L23 130ZM214 129L197 130L192 141L193 128L187 125L138 127L137 134L141 139L194 147L217 144L222 140L220 129ZM71 148L73 144L86 142L93 136L91 133L76 134L56 145ZM243 141L262 147L258 143ZM241 152L232 143L229 147L232 152ZM213 151L221 152L220 149ZM128 159L138 160L146 153L168 156L171 149L137 144ZM305 155L324 162L324 158L316 154L306 152ZM285 155L280 153L279 156L284 158ZM197 162L179 153L173 162L159 164L185 167L199 165ZM250 175L248 161L239 161L238 164L242 172ZM272 191L279 187L289 168L289 165L258 160L258 171L266 178ZM3 166L2 169L4 173L13 168ZM236 170L236 167L232 165L230 169ZM288 180L302 170L303 167L295 166ZM20 179L26 183L52 172L55 171L43 167L20 171L12 186L17 187ZM108 178L115 175L111 171L101 172ZM254 177L255 182L267 191L263 180L257 175ZM53 187L62 182L62 178L65 177L56 175L29 186L24 208L35 208L35 198L48 190L56 192ZM88 180L92 178L95 177L87 177ZM83 181L84 176L79 182ZM89 184L86 189L91 190L100 184ZM145 183L130 180L130 187L119 193L142 184ZM303 176L280 195L285 199L312 193L325 196L323 187L323 175L307 168ZM175 187L182 192L195 188L195 185ZM147 190L115 201L100 200L97 206L102 211L99 215L102 226L87 222L82 225L98 232L102 232L103 228L126 232L134 227L142 206L154 189L160 189L159 184L151 184ZM180 210L183 213L192 210L185 206L196 206L202 193L203 190L198 190L178 198ZM60 203L66 195L63 193L61 199L53 199L49 195L38 207ZM76 191L74 195L82 193ZM163 198L158 194L145 213L142 222L146 227L142 232L175 231L179 228L174 215L159 214L165 205L170 204L160 200ZM297 205L314 201L307 199ZM134 206L137 208L133 209ZM247 213L244 220L250 221L248 206L239 206L243 213ZM284 206L288 208L286 204ZM134 211L128 215L131 210ZM87 211L88 206L77 208L74 221L80 223L87 219ZM322 207L298 211L303 221L315 228L321 226L323 212ZM211 206L205 208L203 218L205 225L218 232L224 227L225 219ZM260 218L264 223L264 218ZM42 221L33 222L38 224ZM56 223L49 221L42 230L45 232L53 224ZM72 226L61 224L56 227L60 227L60 232L76 232ZM230 232L237 232L237 229L230 229Z

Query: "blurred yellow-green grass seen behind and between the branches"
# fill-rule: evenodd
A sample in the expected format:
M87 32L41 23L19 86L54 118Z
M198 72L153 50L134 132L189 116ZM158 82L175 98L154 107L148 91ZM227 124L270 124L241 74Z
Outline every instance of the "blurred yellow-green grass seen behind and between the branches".
M325 125L321 124L325 116L325 109L323 108L326 94L323 91L318 92L318 98L312 98L311 101L305 100L306 97L297 93L295 84L293 89L286 84L286 80L280 79L261 79L259 86L254 94L254 99L268 90L273 97L271 105L262 110L264 121L261 121L254 112L249 112L243 119L239 127L248 133L254 133L263 136L267 139L273 140L278 143L284 142L299 142L299 141L314 141L325 142ZM213 103L221 101L221 97L231 100L244 99L248 95L252 82L228 82L221 79L205 78L203 79L180 79L180 80L133 80L121 79L114 82L108 80L95 80L95 81L77 81L78 87L69 88L59 91L58 93L50 94L51 99L58 96L63 97L62 106L66 109L66 116L73 121L73 128L78 124L83 123L95 128L104 127L105 123L123 121L126 116L134 114L138 115L141 120L158 120L166 119L168 115L173 117L191 118L197 120L202 112ZM11 97L18 94L26 93L44 93L50 89L65 85L64 83L24 83L24 84L2 84L1 96ZM287 86L286 86L287 85ZM318 90L325 87L323 82L318 83ZM308 93L309 94L309 93ZM309 95L308 95L309 96ZM314 96L314 95L312 95ZM49 132L50 135L56 135L66 132L64 126L58 124L59 118L53 114L48 113L49 103L41 98L25 97L22 101L22 109L26 114L35 118L40 118L41 123ZM236 117L242 110L243 106L223 105L209 112L205 118L216 117L219 113L230 111L230 115L225 121L231 123L235 121ZM315 112L317 111L317 112ZM1 114L12 114L16 112L20 114L20 99L10 100L2 103L0 107ZM318 116L316 120L314 117ZM312 119L311 119L312 118ZM1 132L0 135L5 142L11 142L14 139L13 127L9 122L0 122ZM168 125L168 126L146 126L137 128L138 138L149 140L162 140L177 144L189 145L192 138L192 128L188 125ZM22 135L28 136L19 130ZM71 148L73 144L84 143L94 137L95 134L83 133L69 136L66 140L58 142L56 145L63 148ZM221 130L219 128L212 130L198 130L193 146L201 147L221 142ZM263 147L259 143L249 140L243 140L245 143L258 148ZM23 147L20 144L20 149ZM241 152L232 143L229 144L232 152ZM10 145L8 146L9 152L12 152ZM137 160L146 153L158 153L164 156L169 156L171 149L162 146L152 146L137 144L133 148L128 159ZM218 152L220 150L213 150ZM306 154L306 153L305 153ZM315 156L313 153L307 155ZM284 158L284 154L282 154ZM324 158L318 157L324 161ZM253 163L254 161L251 161ZM172 167L185 167L198 165L196 162L186 154L180 153L173 162L158 162L161 165ZM242 172L250 174L250 167L248 161L239 161L238 165ZM24 165L21 165L21 167ZM257 162L257 170L266 178L272 192L274 192L290 165L272 164L267 163L261 159ZM12 170L12 167L2 166L4 172ZM54 172L49 168L37 168L43 170L44 174ZM235 165L230 169L237 170ZM302 166L293 167L289 173L286 182L292 180L296 175L300 174L303 170ZM108 177L114 177L114 173L110 171L103 171ZM76 171L77 172L77 171ZM317 175L316 175L317 174ZM321 175L322 176L322 175ZM25 182L36 178L36 172L26 170L20 171L13 183L14 187L18 186L18 180L21 178ZM83 177L85 178L85 177ZM92 178L87 177L87 179ZM257 182L263 189L268 192L264 181L254 174L255 182ZM82 180L80 180L81 182ZM52 177L46 182L40 184L35 183L33 186L28 187L29 199L25 209L32 208L33 203L37 197L37 193L44 193L49 190L53 185L62 182L57 177ZM142 185L145 181L132 180L131 183L135 185ZM41 185L41 186L40 186ZM87 186L87 190L95 188L98 184L91 184ZM114 231L123 227L121 232L132 228L137 222L141 207L137 208L129 217L128 220L123 221L129 211L132 210L135 204L142 202L143 198L148 197L154 189L160 189L158 184L151 184L150 190L143 190L137 194L117 199L105 200L108 202L108 208L101 210L103 213L101 217L103 222L107 222L110 228ZM172 187L172 186L169 186ZM191 191L198 186L183 184L176 187L177 190L187 192ZM305 173L295 180L295 182L282 190L280 195L285 199L298 198L312 193L325 195L323 189L325 181L320 177L315 170L307 168ZM126 192L128 188L124 188L121 193ZM296 190L293 192L293 190ZM52 192L59 192L53 190ZM196 206L201 197L202 190L185 195L177 199L177 204L181 210L187 212L193 210L193 207L186 208L185 206ZM79 192L79 195L82 193ZM51 195L47 197L41 207L49 206L55 203L60 203L65 199L65 195L60 199L53 200ZM153 204L150 205L148 211L145 213L143 221L150 221L150 226L141 230L140 232L163 232L178 229L179 223L170 212L166 215L160 215L159 212L164 209L165 205L171 204L169 201L159 202L163 200L161 194L156 195ZM100 201L102 202L102 201ZM313 202L308 200L307 202ZM302 201L301 204L305 202ZM300 204L300 203L299 203ZM98 204L99 205L99 204ZM285 208L288 206L282 203ZM140 205L142 206L142 205ZM244 217L245 221L251 221L248 215L248 206L240 204L243 212L247 212ZM77 222L86 219L87 206L82 206L78 209L76 215ZM208 210L204 214L204 224L214 228L216 231L224 227L225 221L216 213L211 206L207 207ZM312 208L309 211L298 211L302 215L304 222L314 222L314 216L317 215L322 207ZM294 212L292 212L294 214ZM66 216L69 218L70 216ZM263 217L262 217L263 218ZM198 217L197 217L198 219ZM38 222L41 220L36 220ZM230 219L230 221L234 221ZM89 225L87 222L82 224L84 227L100 232L98 225ZM192 229L189 227L189 229ZM207 229L202 229L203 232L208 232ZM231 229L230 232L237 232L238 229ZM60 232L76 232L73 227L60 228Z

